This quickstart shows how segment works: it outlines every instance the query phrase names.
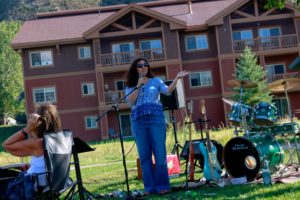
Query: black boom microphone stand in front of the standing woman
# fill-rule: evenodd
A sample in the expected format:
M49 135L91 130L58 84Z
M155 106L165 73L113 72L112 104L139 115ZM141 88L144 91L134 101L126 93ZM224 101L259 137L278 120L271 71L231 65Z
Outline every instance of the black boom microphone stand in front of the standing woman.
M124 173L125 173L125 181L126 181L126 187L127 187L127 197L126 199L133 199L133 197L130 194L130 189L129 189L129 181L128 181L128 172L127 172L127 166L126 166L126 157L125 157L125 151L124 151L124 143L123 143L123 134L121 132L121 125L120 125L120 119L118 117L118 111L119 111L119 104L123 102L130 94L132 94L134 91L137 89L140 89L141 87L135 87L131 92L129 92L127 95L125 95L123 98L119 99L117 102L115 102L110 109L105 111L102 115L100 115L97 119L96 122L99 121L102 117L107 115L107 113L111 111L116 111L117 112L117 118L118 118L118 124L119 124L119 138L120 138L120 143L121 143L121 149L122 149L122 160L123 160L123 167L124 167Z

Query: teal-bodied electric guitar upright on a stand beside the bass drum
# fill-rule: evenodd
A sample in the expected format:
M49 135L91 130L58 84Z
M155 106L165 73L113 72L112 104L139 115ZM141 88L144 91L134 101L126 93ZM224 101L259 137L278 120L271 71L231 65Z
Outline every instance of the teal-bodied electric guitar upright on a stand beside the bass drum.
M205 124L204 130L206 133L206 147L203 142L200 142L200 151L204 157L203 175L206 180L213 180L217 182L221 178L222 169L217 159L217 148L212 144L209 137L206 109L204 104L205 101L202 99L200 101L200 112L203 115Z

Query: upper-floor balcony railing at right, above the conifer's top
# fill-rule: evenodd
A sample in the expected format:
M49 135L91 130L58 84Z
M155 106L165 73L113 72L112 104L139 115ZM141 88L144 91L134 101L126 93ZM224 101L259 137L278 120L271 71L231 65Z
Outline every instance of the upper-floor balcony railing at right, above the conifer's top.
M296 34L281 35L276 37L259 37L252 40L238 40L233 42L234 52L242 52L246 46L252 51L270 50L287 47L296 47L298 38Z

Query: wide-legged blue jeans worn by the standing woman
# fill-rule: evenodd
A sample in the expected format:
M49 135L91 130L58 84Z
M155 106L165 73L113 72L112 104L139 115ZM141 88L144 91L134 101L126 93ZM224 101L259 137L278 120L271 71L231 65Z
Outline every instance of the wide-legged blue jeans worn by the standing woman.
M131 120L131 125L138 148L145 192L169 191L164 115L146 115ZM154 168L152 153L155 158Z

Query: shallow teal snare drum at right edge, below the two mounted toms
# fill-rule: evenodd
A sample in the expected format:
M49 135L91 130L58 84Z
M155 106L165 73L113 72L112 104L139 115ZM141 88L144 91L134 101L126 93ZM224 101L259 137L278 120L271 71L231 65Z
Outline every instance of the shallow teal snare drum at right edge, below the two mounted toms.
M297 122L275 124L273 127L271 127L271 133L273 135L297 134L300 132L299 128L300 127Z

